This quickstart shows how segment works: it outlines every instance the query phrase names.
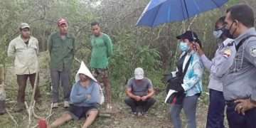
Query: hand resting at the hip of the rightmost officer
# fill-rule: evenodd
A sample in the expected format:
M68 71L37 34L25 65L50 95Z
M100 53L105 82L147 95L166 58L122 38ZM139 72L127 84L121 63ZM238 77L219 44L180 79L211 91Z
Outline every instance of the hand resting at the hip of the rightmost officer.
M255 105L252 102L250 102L250 99L235 100L235 103L238 103L238 105L235 106L235 111L237 111L238 114L242 114L242 115L245 115L245 112L247 110L250 110L253 107L255 107Z

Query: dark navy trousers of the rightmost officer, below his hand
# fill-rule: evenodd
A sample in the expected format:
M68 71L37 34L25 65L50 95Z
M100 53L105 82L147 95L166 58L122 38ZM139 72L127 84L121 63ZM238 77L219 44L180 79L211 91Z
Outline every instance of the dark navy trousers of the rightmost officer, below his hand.
M235 111L235 103L228 102L227 117L230 128L255 128L256 127L256 108L247 110L245 115Z

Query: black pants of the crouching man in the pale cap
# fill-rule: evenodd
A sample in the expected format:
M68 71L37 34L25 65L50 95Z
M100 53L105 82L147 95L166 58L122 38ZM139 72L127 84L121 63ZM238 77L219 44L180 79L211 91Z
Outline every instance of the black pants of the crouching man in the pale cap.
M130 97L127 97L124 102L132 108L132 112L137 112L137 108L141 107L143 112L147 112L149 108L154 105L156 100L154 98L149 98L145 101L136 101Z

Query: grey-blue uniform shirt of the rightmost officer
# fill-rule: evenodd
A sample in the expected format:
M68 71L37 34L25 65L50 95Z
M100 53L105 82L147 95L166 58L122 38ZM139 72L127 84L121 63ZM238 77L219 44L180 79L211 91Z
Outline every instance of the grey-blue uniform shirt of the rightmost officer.
M235 45L247 36L256 35L255 28L235 38ZM256 100L256 38L247 39L231 61L233 64L223 77L223 94L225 100L252 98ZM228 67L223 67L228 68Z

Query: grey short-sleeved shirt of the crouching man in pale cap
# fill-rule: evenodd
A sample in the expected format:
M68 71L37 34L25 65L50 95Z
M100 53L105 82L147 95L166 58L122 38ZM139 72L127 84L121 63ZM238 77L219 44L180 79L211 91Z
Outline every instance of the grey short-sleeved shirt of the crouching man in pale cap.
M149 89L153 88L151 80L144 78L136 82L135 78L131 78L127 83L127 88L132 89L132 94L144 96L148 94Z

